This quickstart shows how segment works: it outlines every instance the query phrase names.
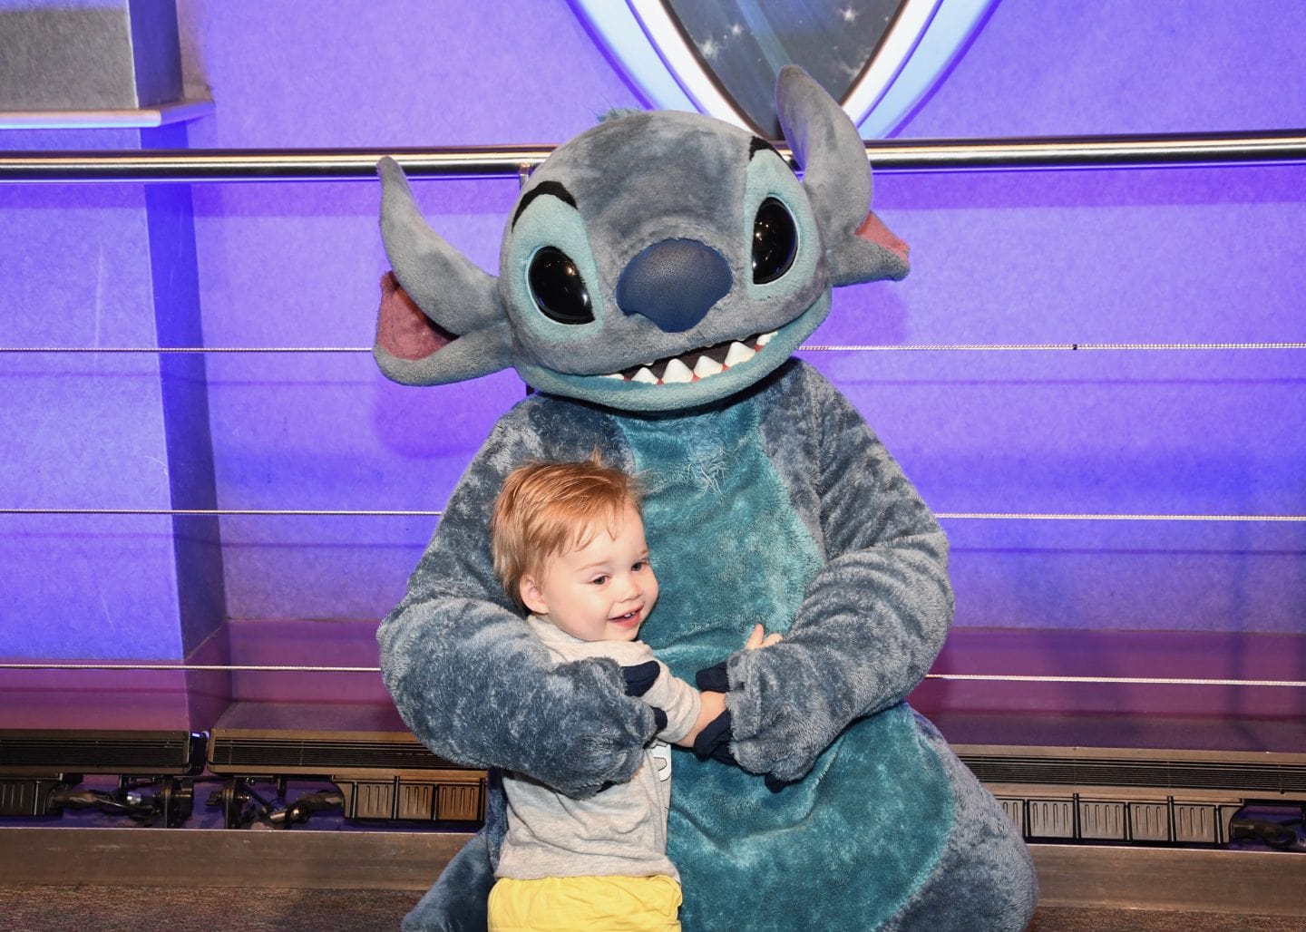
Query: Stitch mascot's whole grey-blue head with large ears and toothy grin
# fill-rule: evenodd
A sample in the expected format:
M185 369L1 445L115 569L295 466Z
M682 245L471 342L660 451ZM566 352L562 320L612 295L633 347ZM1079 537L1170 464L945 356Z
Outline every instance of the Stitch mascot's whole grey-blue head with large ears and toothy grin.
M458 337L441 345L392 290L381 369L436 385L511 365L541 392L627 411L757 382L825 318L831 286L908 270L905 244L868 211L852 121L797 68L781 77L780 116L802 181L769 144L695 114L631 114L582 133L521 192L498 279L431 232L383 161L394 277Z

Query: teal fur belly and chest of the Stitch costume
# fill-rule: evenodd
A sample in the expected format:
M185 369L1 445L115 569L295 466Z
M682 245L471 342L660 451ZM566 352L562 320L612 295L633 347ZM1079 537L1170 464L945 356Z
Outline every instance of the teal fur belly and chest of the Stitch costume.
M661 597L641 637L680 677L724 660L752 625L784 633L821 550L761 446L751 403L619 418L645 483ZM874 650L874 645L867 645ZM952 830L947 773L897 705L854 722L808 775L761 777L678 753L669 854L686 929L874 928L929 877Z

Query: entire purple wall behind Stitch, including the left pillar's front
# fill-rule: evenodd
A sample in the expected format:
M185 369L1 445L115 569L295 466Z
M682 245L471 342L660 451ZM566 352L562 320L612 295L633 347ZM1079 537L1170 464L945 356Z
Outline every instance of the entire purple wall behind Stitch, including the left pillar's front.
M217 102L189 127L193 148L555 142L607 108L639 106L562 0L179 5L188 84ZM1091 12L1059 5L1053 17L1036 0L1002 0L900 134L1301 125L1303 52L1297 3L1194 0L1181 16L1114 0ZM0 144L116 145L103 133L69 138ZM913 274L840 292L812 342L1306 341L1303 189L1302 167L884 174L876 208L912 243ZM487 269L515 191L512 181L417 185L432 226ZM385 269L376 184L202 184L192 196L209 346L371 343ZM133 219L140 188L8 188L0 198L17 218L0 230L0 256L25 257L0 273L0 343L150 335L137 313L149 307L149 273L133 258L146 238ZM1299 354L808 358L939 512L1306 512ZM29 450L0 453L0 501L165 506L158 470L133 449L138 435L155 452L162 444L157 360L3 358L0 367L0 424ZM521 393L512 375L398 388L366 354L213 356L217 504L439 509ZM65 462L68 426L91 436L104 423L119 440ZM0 521L7 576L18 568L29 581L0 597L0 655L179 655L167 621L175 593L124 583L104 608L131 619L115 628L91 604L94 581L124 550L162 553L162 523L104 520L68 536L69 525L50 518ZM434 523L225 518L227 614L376 619L400 598ZM1301 525L947 527L963 625L1303 630ZM63 610L69 591L85 603L76 637Z

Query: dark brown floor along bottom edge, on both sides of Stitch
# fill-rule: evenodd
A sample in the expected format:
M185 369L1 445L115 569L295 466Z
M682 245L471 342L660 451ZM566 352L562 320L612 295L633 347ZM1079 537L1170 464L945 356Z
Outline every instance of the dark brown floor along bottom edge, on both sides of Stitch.
M129 871L131 865L124 864ZM411 890L0 886L5 932L359 932L397 929ZM1030 932L1306 932L1306 916L1043 907ZM982 931L977 931L982 932Z

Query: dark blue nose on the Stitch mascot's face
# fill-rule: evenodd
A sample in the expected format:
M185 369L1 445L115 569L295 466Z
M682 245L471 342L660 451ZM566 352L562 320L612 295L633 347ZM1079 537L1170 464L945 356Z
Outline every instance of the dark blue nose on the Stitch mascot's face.
M730 292L730 264L693 239L665 239L645 247L616 281L616 304L644 315L666 333L703 320Z

